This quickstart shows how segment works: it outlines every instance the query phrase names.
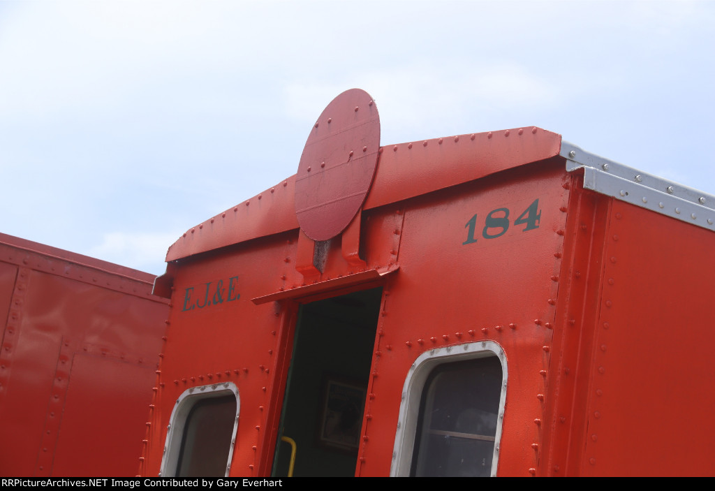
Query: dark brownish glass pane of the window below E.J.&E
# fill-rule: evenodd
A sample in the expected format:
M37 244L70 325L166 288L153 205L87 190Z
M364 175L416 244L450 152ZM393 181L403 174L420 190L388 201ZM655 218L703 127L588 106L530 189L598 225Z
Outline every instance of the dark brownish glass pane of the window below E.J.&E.
M177 477L225 476L235 420L233 395L197 400L184 425Z

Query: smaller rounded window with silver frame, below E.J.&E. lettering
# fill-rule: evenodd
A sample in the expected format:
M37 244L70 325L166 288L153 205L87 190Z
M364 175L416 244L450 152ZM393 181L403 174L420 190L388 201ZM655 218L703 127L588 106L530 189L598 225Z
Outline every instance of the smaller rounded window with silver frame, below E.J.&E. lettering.
M227 476L238 412L238 389L230 382L185 391L172 412L161 475Z

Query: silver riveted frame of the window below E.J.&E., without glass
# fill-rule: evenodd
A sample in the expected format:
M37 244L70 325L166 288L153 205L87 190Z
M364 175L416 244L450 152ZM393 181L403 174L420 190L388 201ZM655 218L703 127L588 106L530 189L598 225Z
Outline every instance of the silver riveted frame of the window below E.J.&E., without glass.
M223 397L226 395L236 397L236 417L233 422L233 431L231 434L231 447L228 452L228 460L226 462L226 472L224 477L229 476L231 469L231 460L233 458L233 450L236 446L236 431L238 429L238 417L241 409L241 398L238 392L238 387L233 382L221 382L212 385L199 385L189 387L182 392L182 395L177 399L172 416L167 427L167 437L164 440L164 456L162 457L162 466L159 476L172 477L176 475L177 465L179 464L179 455L181 455L182 440L184 437L184 427L186 426L187 417L197 402L210 399L213 397Z

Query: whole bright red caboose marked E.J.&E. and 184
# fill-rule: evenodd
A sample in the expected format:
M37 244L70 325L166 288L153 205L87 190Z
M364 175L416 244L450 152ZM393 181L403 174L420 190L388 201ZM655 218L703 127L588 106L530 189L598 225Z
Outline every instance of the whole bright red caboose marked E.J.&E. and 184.
M712 475L714 205L536 127L380 146L347 91L169 249L140 472Z

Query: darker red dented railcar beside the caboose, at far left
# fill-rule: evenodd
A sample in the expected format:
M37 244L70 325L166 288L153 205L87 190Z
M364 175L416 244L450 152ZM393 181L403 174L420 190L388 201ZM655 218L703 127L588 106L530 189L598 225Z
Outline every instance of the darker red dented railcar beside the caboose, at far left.
M152 279L0 235L0 475L136 475L168 309Z

